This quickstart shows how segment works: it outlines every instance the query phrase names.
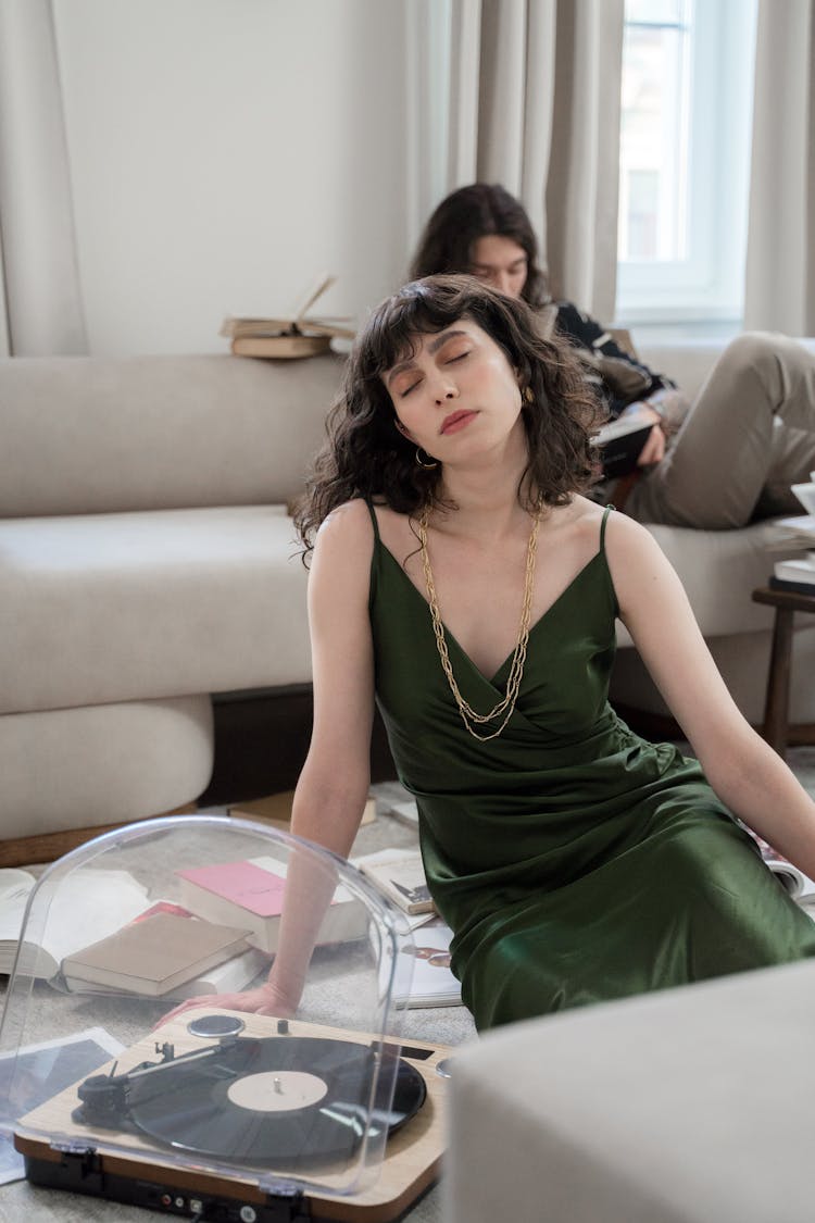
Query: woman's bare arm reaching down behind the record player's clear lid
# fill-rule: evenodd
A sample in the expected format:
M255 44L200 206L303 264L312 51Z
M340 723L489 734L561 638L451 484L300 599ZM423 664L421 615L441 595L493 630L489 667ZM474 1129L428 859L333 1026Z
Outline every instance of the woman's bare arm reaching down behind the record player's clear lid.
M367 506L353 501L323 523L308 583L314 723L292 811L292 832L347 857L362 821L370 783L374 663L368 616L373 527ZM219 1007L261 1015L293 1014L336 872L323 855L293 849L277 954L265 985L235 994L192 998L192 1007Z

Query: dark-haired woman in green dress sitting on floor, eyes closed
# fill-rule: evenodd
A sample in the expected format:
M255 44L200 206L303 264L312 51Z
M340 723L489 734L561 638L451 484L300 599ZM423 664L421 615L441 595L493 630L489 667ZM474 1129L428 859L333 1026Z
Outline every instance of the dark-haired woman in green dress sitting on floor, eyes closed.
M363 328L296 519L314 726L292 832L351 851L376 700L480 1030L815 955L734 818L815 877L815 802L652 536L584 495L601 415L525 302L430 276ZM611 709L616 616L698 759ZM327 899L290 867L268 982L180 1010L293 1013Z

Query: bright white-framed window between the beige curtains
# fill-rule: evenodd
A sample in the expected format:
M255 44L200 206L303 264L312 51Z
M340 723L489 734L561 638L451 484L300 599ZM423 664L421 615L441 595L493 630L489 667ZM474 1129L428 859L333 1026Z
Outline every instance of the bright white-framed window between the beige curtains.
M755 16L756 0L626 0L622 323L740 320Z

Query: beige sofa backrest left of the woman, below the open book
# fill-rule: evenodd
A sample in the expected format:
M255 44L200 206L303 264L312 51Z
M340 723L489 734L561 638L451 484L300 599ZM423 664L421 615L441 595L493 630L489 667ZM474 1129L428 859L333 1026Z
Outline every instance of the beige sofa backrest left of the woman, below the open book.
M287 501L343 361L0 361L0 516Z

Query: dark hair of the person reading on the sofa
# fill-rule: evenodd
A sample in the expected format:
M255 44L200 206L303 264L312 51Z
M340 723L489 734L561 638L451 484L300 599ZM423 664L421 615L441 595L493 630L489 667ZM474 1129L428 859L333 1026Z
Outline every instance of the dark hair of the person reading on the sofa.
M413 256L411 279L441 272L470 272L475 242L490 234L508 237L523 247L527 256L523 300L530 306L549 301L549 285L538 265L538 238L532 221L523 204L497 182L473 182L441 201Z

